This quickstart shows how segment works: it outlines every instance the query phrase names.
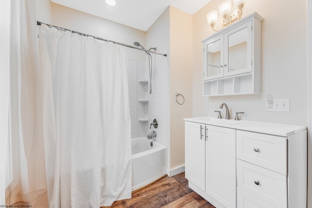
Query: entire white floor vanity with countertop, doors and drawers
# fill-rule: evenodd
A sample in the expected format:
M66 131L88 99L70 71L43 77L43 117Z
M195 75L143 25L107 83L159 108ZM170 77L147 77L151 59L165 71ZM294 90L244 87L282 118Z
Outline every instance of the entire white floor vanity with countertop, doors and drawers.
M307 208L304 126L185 120L185 177L216 208Z

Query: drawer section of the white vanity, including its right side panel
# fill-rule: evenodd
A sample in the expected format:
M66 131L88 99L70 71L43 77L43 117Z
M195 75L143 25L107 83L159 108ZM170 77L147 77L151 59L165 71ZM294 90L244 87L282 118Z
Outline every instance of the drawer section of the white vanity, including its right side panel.
M236 130L237 208L307 207L307 131L289 136ZM270 206L269 206L270 205Z

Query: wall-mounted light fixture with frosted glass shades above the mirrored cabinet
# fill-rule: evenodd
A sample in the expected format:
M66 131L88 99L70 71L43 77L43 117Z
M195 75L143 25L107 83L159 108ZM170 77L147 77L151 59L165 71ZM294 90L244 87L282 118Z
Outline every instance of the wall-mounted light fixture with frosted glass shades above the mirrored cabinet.
M237 7L234 11L232 9L232 0L225 0L219 4L219 13L222 17L222 28L230 25L235 19L240 19L242 15L242 10L244 8L246 0L234 0L234 4ZM215 32L220 30L215 30L215 22L218 19L218 11L211 11L207 14L208 24L213 28Z

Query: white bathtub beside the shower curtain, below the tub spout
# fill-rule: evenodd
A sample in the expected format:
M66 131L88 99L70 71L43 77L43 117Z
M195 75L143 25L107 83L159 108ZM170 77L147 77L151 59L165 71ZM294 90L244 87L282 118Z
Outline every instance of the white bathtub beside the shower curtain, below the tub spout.
M165 151L161 143L146 136L132 138L132 190L144 187L166 174ZM153 142L153 147L150 143Z

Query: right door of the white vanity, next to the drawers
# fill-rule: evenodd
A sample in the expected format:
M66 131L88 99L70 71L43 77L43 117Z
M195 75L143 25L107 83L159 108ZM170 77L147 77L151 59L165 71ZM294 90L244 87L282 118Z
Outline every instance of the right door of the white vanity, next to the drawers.
M235 130L206 127L206 193L224 207L235 208Z

